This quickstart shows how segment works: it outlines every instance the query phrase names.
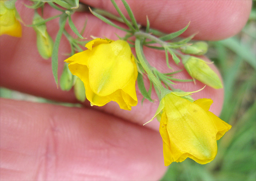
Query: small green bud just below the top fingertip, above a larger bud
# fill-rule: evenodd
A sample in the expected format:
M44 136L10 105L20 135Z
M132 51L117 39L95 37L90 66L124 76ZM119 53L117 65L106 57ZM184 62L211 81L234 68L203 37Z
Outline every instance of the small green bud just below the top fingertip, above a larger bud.
M180 47L180 51L192 55L204 55L208 50L208 44L204 41L198 41L189 46Z

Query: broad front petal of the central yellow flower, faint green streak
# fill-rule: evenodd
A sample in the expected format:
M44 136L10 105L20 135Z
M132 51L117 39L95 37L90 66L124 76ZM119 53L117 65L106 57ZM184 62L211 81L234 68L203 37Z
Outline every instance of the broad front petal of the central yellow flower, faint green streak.
M88 65L92 91L107 96L123 88L134 72L128 43L118 40L111 44L100 44L92 52Z

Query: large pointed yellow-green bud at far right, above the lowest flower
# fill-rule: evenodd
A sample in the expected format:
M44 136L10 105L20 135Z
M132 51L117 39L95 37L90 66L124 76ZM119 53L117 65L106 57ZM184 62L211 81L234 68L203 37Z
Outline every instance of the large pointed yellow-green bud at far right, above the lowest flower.
M182 63L189 75L200 82L215 88L222 88L222 84L218 75L207 65L207 63L197 57L186 56L183 58Z

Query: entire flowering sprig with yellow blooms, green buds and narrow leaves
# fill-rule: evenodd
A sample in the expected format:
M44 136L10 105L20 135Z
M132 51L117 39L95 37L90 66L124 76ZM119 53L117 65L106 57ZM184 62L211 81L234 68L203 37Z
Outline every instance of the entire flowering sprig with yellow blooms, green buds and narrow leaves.
M21 36L20 18L15 8L15 2L16 0L0 0L0 35ZM127 34L124 37L119 37L120 40L117 41L107 38L81 41L85 39L81 35L83 31L78 32L71 19L73 13L81 11L78 0L36 0L32 2L34 4L27 7L35 9L30 26L36 32L38 53L44 59L52 57L52 72L57 86L59 85L58 49L61 36L64 34L70 43L71 53L70 57L65 60L66 63L60 78L62 90L69 91L74 87L76 98L81 102L87 99L91 102L91 106L104 106L108 102L114 101L121 109L131 110L138 103L135 89L137 81L139 91L145 99L153 102L151 92L154 89L160 101L156 114L150 121L156 116L161 117L159 132L163 140L164 165L182 162L186 158L206 164L215 158L217 154L216 141L231 128L231 125L209 111L213 102L211 99L203 98L194 101L190 97L191 93L201 89L184 92L172 87L172 84L175 84L173 81L189 82L193 80L195 83L198 80L214 89L223 87L220 78L210 66L201 58L195 57L207 52L206 42L188 43L194 35L179 41L172 41L188 28L189 23L177 32L164 34L151 29L148 19L146 27L140 26L129 5L122 0L130 20L126 19L115 1L111 0L120 17L99 9L92 10L89 7L82 9L90 10L93 15L105 23L125 31ZM37 10L39 8L43 10L46 3L60 11L61 14L44 19ZM106 17L125 23L128 29L114 24ZM60 18L60 28L55 41L53 41L47 32L45 23L55 18ZM68 21L70 29L81 40L68 34L68 31L65 30L66 21ZM86 50L80 47L84 44ZM169 65L169 56L171 55L174 63L184 65L185 71L192 79L184 80L174 77L182 70L161 73L152 67L144 55L143 46L163 50L167 67L170 69L172 69ZM131 47L135 48L135 56L132 54ZM148 90L143 78L149 80Z

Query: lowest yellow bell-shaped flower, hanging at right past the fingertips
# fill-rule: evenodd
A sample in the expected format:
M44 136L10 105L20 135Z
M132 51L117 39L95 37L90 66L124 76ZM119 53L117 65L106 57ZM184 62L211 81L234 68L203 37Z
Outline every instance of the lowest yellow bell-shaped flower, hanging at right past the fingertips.
M156 111L157 115L163 110L159 132L163 139L164 165L186 158L200 164L211 162L217 154L216 140L231 125L208 111L211 99L190 102L175 94L165 95Z

